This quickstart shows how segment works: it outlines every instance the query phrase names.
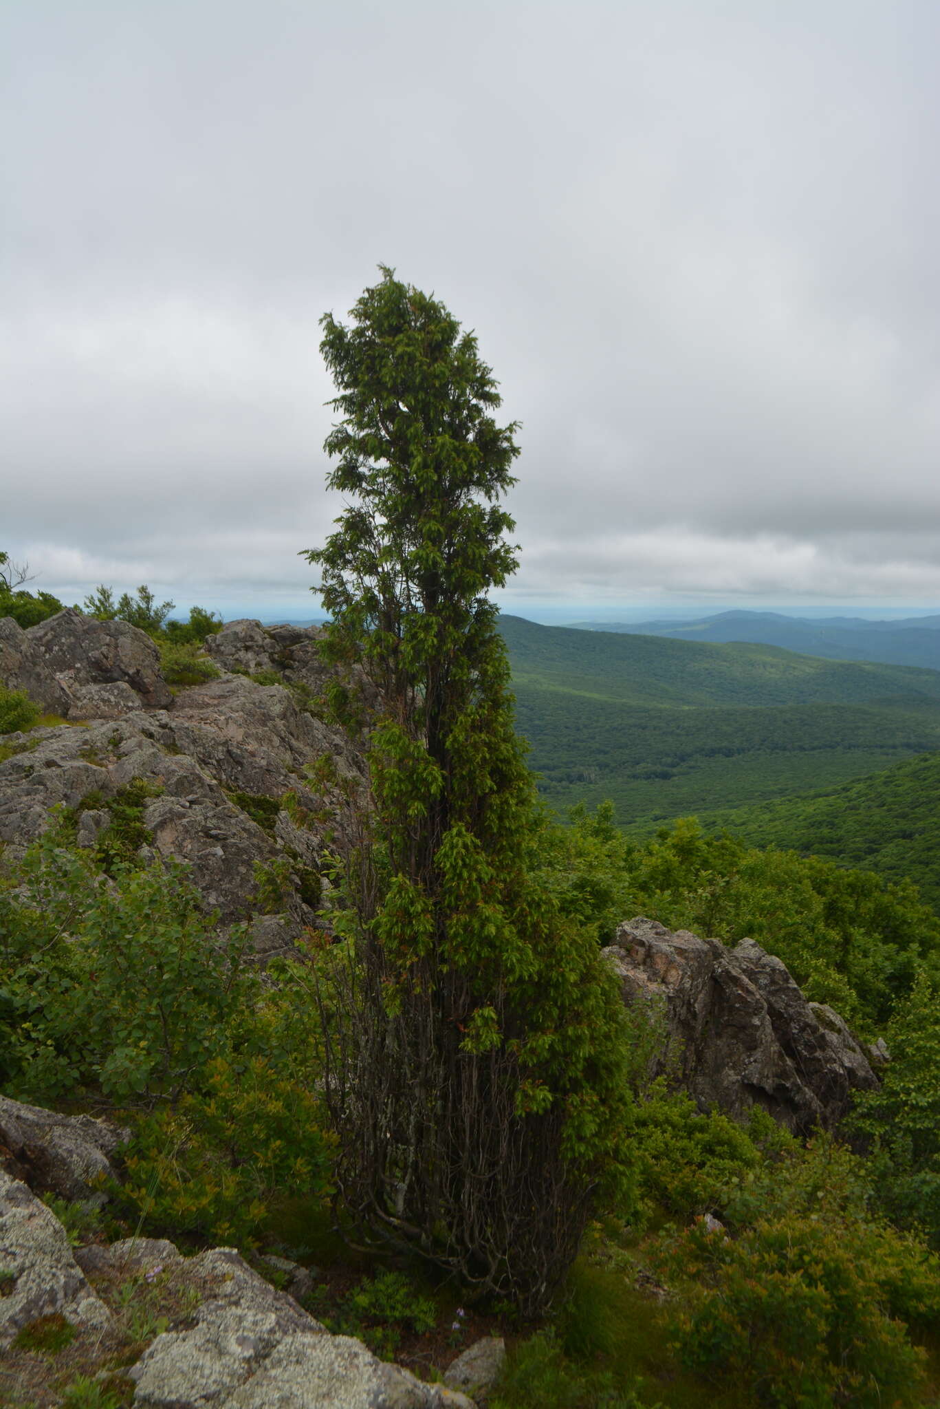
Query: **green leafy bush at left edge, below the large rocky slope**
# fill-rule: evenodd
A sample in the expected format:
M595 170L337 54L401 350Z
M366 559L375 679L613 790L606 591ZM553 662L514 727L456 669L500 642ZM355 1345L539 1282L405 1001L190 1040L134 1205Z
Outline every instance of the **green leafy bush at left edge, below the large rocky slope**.
M0 1074L27 1098L178 1096L249 1003L245 945L224 943L182 868L97 875L47 837L0 886Z

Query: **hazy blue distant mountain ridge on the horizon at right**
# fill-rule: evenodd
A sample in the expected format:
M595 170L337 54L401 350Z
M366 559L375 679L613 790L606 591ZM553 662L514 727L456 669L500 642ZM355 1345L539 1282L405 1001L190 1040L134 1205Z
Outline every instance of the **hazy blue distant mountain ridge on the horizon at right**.
M655 635L710 644L775 645L830 661L874 661L940 669L940 614L870 621L864 617L791 617L779 612L720 612L692 621L576 621L572 630Z

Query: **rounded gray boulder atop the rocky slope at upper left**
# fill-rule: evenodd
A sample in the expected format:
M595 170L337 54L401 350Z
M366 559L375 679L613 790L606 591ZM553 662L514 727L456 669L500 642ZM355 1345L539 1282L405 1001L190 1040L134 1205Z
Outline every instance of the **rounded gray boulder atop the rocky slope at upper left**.
M124 681L149 709L168 709L173 703L156 645L128 621L96 621L66 607L31 626L25 635L69 690Z

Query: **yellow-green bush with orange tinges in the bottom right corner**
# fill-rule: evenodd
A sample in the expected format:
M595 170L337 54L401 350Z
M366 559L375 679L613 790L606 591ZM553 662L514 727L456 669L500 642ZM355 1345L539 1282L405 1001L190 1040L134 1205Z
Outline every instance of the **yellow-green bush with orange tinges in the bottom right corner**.
M917 1403L909 1329L940 1312L940 1262L868 1198L862 1162L817 1141L746 1177L727 1200L737 1236L699 1220L668 1240L682 1363L781 1409Z

